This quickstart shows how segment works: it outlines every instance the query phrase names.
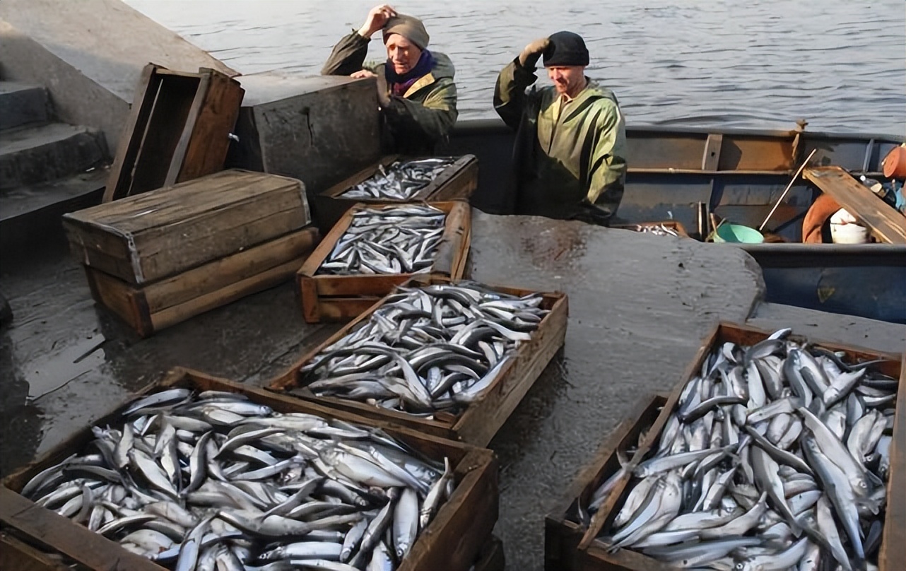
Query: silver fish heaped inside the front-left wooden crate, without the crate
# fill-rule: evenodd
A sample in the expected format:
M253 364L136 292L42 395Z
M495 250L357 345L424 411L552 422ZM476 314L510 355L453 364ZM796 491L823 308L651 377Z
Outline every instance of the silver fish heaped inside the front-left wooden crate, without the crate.
M171 389L22 494L178 571L388 570L453 487L379 429Z

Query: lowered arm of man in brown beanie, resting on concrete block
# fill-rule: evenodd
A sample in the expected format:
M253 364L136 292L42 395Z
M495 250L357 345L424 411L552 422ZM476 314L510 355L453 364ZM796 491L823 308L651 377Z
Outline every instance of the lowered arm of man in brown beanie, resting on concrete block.
M392 96L390 103L384 107L384 113L395 130L416 129L424 132L431 140L439 140L448 134L456 122L456 103L456 83L449 78L442 78L425 102Z

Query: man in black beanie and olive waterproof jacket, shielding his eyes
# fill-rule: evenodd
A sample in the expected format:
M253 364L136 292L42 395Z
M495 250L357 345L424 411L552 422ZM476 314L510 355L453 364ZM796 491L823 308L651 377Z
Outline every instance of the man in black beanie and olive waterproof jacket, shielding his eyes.
M544 65L553 86L528 87ZM516 130L516 213L607 226L626 178L626 126L611 90L585 77L582 36L535 40L497 76L494 109Z

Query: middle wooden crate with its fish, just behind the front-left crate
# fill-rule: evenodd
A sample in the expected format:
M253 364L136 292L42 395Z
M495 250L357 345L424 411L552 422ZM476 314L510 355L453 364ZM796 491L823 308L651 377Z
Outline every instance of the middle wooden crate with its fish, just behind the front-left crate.
M412 280L268 386L485 446L563 346L567 312L562 293Z

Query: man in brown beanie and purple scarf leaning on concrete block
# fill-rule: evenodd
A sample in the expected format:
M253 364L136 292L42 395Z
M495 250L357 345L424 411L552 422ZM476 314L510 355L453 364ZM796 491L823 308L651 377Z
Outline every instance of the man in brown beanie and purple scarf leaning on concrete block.
M371 35L383 31L386 63L364 64ZM430 154L456 122L453 63L445 53L428 50L421 20L389 5L371 9L358 31L340 40L324 64L323 75L376 77L378 103L388 152Z

